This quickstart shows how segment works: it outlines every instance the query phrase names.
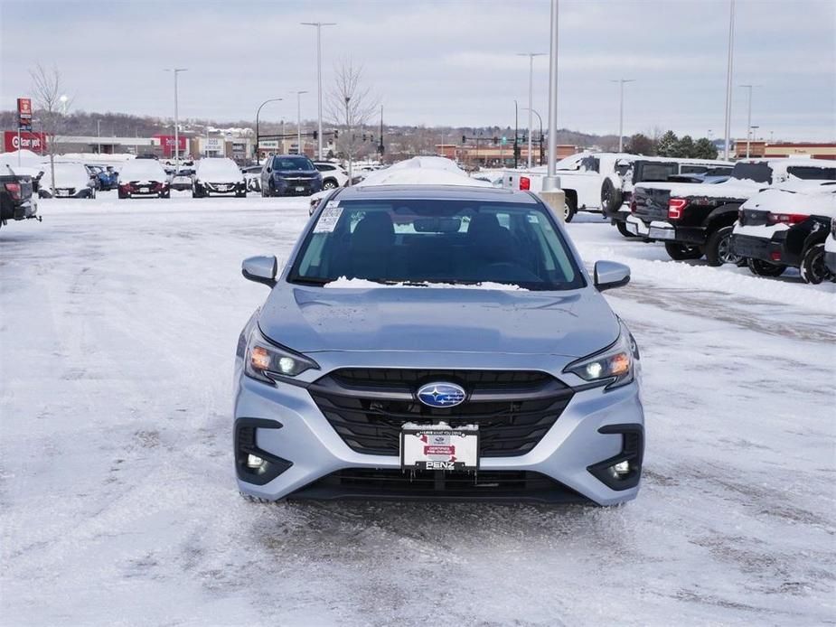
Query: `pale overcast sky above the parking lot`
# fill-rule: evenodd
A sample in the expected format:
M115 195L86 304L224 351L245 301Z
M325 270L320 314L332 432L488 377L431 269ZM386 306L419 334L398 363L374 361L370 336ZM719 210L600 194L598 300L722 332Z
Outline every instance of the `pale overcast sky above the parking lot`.
M0 0L0 108L30 95L27 69L56 64L74 108L181 117L296 118L290 92L308 89L316 111L315 29L324 29L324 84L352 56L380 96L387 123L513 126L526 107L524 51L549 51L548 0L211 2L208 0ZM561 0L558 126L614 133L617 85L625 134L653 126L722 136L728 0ZM535 60L534 108L548 109L548 57ZM767 138L836 139L836 2L738 0L732 135L752 123ZM521 111L521 120L525 113ZM522 122L521 122L522 124ZM536 122L535 122L536 125Z

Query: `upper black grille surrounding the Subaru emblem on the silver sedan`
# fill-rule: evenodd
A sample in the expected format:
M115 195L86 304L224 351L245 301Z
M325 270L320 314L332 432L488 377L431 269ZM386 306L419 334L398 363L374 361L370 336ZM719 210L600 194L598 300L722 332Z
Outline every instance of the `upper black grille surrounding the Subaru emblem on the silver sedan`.
M457 407L427 407L415 391L430 381L465 388ZM318 379L311 396L352 450L399 454L405 422L479 426L480 455L526 454L555 423L572 390L544 372L525 370L336 370Z

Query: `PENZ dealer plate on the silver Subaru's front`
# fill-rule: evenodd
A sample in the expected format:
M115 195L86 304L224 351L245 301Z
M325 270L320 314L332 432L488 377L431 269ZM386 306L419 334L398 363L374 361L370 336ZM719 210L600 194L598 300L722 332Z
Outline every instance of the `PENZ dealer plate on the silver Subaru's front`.
M404 470L465 471L479 468L479 427L404 425L400 434Z

